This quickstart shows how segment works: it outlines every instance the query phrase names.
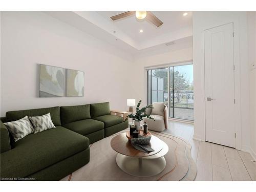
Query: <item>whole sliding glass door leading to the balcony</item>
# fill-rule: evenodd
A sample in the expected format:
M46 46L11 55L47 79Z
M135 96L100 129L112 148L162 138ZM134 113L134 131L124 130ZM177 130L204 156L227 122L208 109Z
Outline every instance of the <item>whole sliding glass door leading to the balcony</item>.
M147 70L148 104L165 102L169 117L194 120L193 65Z

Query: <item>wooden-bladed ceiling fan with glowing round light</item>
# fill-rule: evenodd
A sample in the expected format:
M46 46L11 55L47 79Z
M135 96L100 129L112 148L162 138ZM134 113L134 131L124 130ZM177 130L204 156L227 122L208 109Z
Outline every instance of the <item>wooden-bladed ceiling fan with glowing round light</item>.
M146 19L148 22L151 22L152 24L154 24L157 27L160 27L163 22L156 17L156 15L154 15L152 12L150 11L127 11L118 15L114 15L112 17L110 17L112 20L117 20L120 18L124 18L127 16L131 16L134 15L136 16L136 18L138 19Z

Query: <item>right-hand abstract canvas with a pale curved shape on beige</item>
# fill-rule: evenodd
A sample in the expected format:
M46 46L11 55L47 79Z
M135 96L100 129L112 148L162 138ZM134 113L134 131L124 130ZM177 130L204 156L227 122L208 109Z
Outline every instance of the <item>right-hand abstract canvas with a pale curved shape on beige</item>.
M84 96L84 72L67 69L67 97Z

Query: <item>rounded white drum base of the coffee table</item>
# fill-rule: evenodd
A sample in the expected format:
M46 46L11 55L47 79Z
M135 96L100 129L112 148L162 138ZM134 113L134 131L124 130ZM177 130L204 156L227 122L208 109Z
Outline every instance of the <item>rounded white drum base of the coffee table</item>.
M117 154L116 163L123 172L136 177L152 177L165 168L164 157L145 159Z

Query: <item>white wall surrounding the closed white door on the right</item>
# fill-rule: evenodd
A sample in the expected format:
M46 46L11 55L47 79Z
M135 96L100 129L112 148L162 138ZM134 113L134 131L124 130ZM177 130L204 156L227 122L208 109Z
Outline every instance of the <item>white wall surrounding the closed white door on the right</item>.
M194 60L194 138L205 140L204 100L204 30L233 22L236 97L236 147L248 151L249 129L249 64L247 55L246 12L193 12Z

